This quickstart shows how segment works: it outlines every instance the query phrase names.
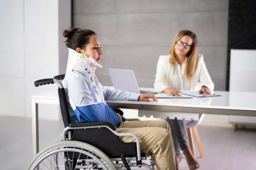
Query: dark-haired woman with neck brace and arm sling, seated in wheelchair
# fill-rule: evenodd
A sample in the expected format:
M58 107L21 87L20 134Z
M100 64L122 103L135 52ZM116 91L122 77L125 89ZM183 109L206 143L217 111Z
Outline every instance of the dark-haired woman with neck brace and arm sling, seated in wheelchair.
M120 113L105 100L155 101L155 95L140 95L104 87L95 75L102 68L103 51L95 32L78 28L63 31L69 58L63 86L70 104L71 122L110 121L120 133L134 133L140 149L151 156L158 170L177 170L171 129L165 121L122 121ZM130 136L119 137L124 143L135 142ZM115 148L112 148L115 150Z

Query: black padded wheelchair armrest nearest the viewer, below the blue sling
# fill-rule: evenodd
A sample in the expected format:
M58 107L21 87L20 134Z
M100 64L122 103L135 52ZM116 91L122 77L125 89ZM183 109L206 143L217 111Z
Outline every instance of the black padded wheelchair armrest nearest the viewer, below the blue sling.
M90 126L108 126L113 131L116 130L116 127L114 124L112 124L109 121L97 121L97 122L84 122L84 123L74 123L69 124L69 127L90 127Z

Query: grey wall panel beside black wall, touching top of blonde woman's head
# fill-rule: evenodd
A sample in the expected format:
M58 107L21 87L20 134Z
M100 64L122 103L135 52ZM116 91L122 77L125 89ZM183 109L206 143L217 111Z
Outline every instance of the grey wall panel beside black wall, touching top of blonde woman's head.
M227 46L227 12L180 13L179 29L196 33L200 46Z

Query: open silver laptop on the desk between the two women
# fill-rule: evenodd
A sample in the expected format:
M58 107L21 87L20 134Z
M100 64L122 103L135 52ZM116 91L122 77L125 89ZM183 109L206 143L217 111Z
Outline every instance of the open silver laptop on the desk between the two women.
M109 68L109 75L115 89L138 94L155 94L154 91L139 90L133 70Z

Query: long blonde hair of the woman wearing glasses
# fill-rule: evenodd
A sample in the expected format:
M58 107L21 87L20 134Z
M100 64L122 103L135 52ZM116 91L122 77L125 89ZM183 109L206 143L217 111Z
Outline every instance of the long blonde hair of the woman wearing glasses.
M169 49L170 54L170 64L173 67L176 61L176 53L175 53L175 44L179 39L181 39L184 36L190 36L193 39L193 44L190 48L190 51L187 53L187 64L185 68L186 76L188 79L191 79L194 75L194 72L197 67L197 37L196 34L194 34L191 31L188 30L182 30L180 31L174 38L173 44L171 45L171 48Z

